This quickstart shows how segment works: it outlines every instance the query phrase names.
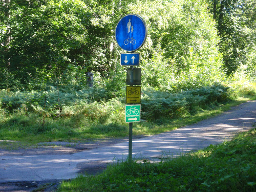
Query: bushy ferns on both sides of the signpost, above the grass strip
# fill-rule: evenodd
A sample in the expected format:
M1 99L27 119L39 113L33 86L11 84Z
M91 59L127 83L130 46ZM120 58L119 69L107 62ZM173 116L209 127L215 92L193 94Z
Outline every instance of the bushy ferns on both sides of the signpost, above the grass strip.
M178 118L194 114L228 100L228 88L216 84L211 87L169 93L154 90L143 91L142 118L156 120L160 117ZM5 94L3 94L5 93ZM1 108L6 112L35 113L41 117L71 117L83 115L94 123L120 123L124 119L124 103L120 99L104 101L104 91L88 88L65 90L50 87L48 91L4 92Z

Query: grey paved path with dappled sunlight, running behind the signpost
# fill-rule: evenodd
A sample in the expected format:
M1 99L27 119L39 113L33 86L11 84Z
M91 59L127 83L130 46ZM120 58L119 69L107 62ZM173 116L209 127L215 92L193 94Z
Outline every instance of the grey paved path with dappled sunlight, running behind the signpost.
M248 101L194 125L133 140L133 156L152 161L221 143L256 125L256 101ZM75 178L94 163L126 159L128 142L72 155L0 156L0 183Z

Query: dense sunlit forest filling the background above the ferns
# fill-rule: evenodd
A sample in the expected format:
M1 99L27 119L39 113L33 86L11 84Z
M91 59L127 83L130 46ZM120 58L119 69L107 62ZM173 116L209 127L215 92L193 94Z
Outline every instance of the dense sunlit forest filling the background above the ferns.
M114 32L130 13L148 29L137 51L144 88L174 92L255 79L254 0L2 0L0 6L0 89L82 89L93 72L95 87L120 95L126 70Z

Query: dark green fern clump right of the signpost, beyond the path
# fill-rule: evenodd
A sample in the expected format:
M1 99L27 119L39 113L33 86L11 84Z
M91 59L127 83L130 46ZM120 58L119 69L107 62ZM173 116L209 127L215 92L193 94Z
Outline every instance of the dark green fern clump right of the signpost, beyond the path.
M199 108L207 109L211 105L227 102L228 89L216 84L180 93L144 91L141 100L142 117L155 120L160 117L178 118L186 114L194 114Z

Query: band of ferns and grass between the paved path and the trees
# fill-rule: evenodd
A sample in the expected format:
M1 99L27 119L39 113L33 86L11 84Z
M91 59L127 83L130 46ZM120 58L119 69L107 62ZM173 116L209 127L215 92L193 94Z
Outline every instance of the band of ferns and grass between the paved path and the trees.
M133 134L154 135L174 130L255 99L252 86L239 90L221 84L179 93L143 90L141 122L134 123ZM96 89L68 92L51 88L48 92L15 93L2 90L0 140L25 142L20 146L27 146L47 141L127 137L124 99L95 101L100 97L101 91ZM5 145L1 142L0 146Z

